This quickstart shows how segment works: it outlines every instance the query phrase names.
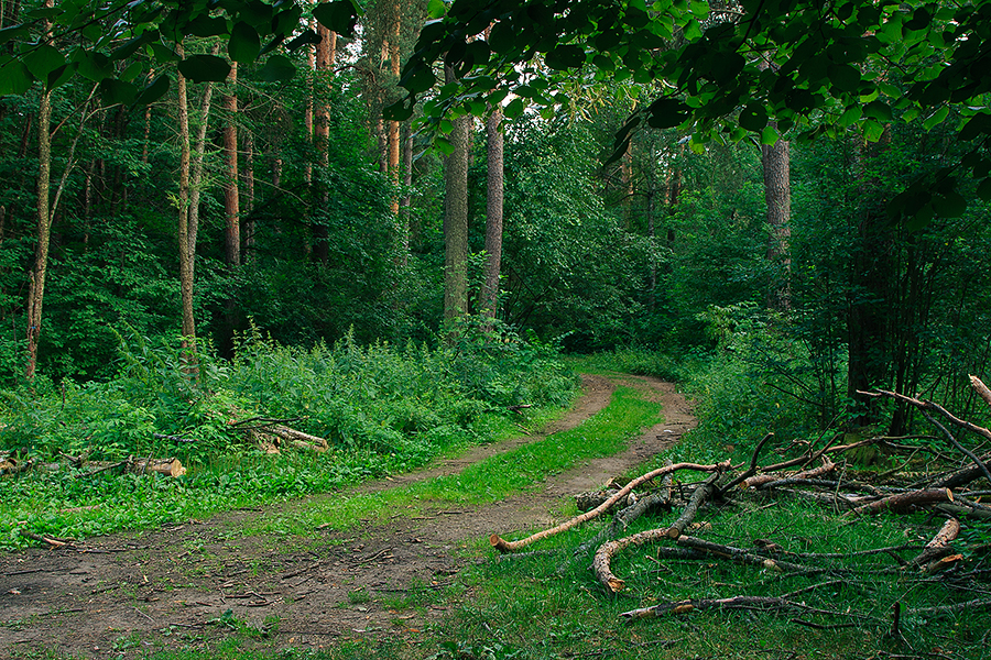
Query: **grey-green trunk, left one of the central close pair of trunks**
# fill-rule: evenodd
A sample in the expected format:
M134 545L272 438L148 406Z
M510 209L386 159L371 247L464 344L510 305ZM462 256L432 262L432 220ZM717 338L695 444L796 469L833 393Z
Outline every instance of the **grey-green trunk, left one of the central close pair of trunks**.
M454 70L445 67L447 80ZM471 117L453 122L454 152L444 160L444 322L453 330L455 319L468 311L468 152Z

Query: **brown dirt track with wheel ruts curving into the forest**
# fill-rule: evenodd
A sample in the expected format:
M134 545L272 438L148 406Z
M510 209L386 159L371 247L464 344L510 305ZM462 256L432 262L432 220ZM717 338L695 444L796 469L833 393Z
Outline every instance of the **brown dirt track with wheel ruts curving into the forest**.
M0 658L43 649L79 658L133 658L230 635L268 630L268 647L317 648L344 637L410 635L439 619L439 590L459 570L461 549L492 531L552 522L560 498L600 486L671 446L695 425L669 383L585 377L571 411L543 431L479 447L417 473L368 484L395 487L577 427L602 409L616 384L649 393L665 422L622 453L548 479L543 490L482 508L428 508L414 519L349 536L243 537L246 518L293 505L231 512L140 535L90 539L75 548L0 556ZM324 497L331 497L326 495ZM339 496L339 495L338 495ZM411 607L411 605L416 605Z

